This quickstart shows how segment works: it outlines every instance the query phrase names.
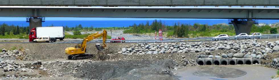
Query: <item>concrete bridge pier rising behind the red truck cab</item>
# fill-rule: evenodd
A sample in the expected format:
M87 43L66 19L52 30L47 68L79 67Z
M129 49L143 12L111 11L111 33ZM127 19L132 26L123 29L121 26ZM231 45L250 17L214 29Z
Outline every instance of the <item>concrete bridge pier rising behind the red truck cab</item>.
M42 18L29 18L29 30L36 27L42 27Z

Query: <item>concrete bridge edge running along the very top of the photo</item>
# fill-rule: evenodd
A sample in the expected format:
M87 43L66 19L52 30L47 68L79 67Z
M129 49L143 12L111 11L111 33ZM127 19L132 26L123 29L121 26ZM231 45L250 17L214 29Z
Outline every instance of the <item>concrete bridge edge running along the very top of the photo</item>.
M0 0L0 6L279 6L278 0Z

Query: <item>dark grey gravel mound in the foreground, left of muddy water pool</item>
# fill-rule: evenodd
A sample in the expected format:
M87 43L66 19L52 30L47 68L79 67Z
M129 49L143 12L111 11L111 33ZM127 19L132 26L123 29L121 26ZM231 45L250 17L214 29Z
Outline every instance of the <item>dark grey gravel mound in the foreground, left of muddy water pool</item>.
M124 60L84 64L75 77L85 79L176 79L173 60ZM133 76L134 75L134 76ZM167 77L166 77L167 76Z

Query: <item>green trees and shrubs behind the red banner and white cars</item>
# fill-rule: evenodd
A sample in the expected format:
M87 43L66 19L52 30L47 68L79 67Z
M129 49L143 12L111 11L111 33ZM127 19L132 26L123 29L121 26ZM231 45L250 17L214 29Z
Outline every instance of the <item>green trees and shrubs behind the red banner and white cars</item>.
M173 26L166 25L161 20L154 20L151 24L147 21L145 24L133 24L128 27L128 30L124 30L124 33L154 33L159 29L167 33L167 36L173 37L210 37L219 34L228 34L230 36L236 35L232 24L180 24L175 23ZM277 33L278 28L271 28L268 25L256 26L255 24L251 28L251 33L259 32L263 34Z

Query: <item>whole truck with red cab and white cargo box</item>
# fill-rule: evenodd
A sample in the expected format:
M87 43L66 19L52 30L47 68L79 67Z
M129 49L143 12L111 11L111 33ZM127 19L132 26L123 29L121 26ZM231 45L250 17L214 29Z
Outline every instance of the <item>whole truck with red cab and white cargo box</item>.
M50 42L56 42L56 39L62 41L65 38L64 27L36 27L30 30L29 42L34 42L34 39L48 36Z

